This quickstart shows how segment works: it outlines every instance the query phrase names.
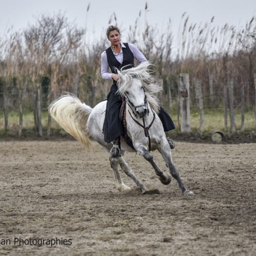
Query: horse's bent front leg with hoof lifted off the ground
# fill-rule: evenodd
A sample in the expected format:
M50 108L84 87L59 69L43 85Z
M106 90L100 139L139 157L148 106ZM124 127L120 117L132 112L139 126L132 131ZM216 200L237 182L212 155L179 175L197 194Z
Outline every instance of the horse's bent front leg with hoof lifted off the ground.
M147 160L149 163L151 163L151 165L153 166L159 180L164 184L164 185L168 185L171 183L171 177L167 174L165 174L155 163L154 161L154 157L151 154L150 151L148 151L143 145L141 144L137 144L135 145L137 152L139 152L139 154L142 154L143 157L145 158L145 160Z

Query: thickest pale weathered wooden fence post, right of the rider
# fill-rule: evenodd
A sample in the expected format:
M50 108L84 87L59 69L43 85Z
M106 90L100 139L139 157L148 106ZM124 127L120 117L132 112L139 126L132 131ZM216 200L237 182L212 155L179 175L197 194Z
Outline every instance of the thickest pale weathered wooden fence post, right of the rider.
M180 131L190 132L189 74L179 76L179 106L181 114Z

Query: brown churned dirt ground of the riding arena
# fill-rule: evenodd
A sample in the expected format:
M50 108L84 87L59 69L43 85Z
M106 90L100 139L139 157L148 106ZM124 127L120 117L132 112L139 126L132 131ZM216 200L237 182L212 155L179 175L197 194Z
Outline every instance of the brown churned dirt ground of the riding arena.
M256 144L176 142L172 157L196 197L181 195L174 179L164 186L138 154L125 159L160 194L141 195L123 173L132 190L117 192L100 146L1 141L0 255L256 255ZM59 244L38 246L43 239Z

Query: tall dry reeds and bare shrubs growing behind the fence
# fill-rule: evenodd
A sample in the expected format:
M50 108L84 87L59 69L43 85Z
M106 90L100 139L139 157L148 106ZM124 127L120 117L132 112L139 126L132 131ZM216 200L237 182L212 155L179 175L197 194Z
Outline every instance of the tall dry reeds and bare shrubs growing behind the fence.
M148 23L147 12L146 3L144 13L139 12L126 34L128 41L136 44L154 64L154 75L163 81L164 92L160 99L166 108L172 106L171 96L175 102L179 73L189 73L194 106L193 79L197 78L205 85L203 96L207 98L211 77L215 100L220 101L223 85L233 79L238 84L235 107L241 103L240 87L243 85L247 110L254 108L255 17L241 27L232 24L219 27L214 24L214 17L209 17L207 23L197 24L184 13L178 35L174 35L171 20L161 34L156 25ZM118 25L115 13L111 15L109 24ZM108 41L102 35L101 38L93 38L91 44L86 30L86 27L78 28L70 23L64 14L59 13L39 15L23 31L7 32L0 38L0 108L3 107L3 93L7 92L11 110L17 110L20 102L32 109L33 92L42 85L45 77L50 81L45 87L48 97L51 91L55 97L70 91L92 106L102 101L111 86L111 81L103 80L100 74L100 54L108 47ZM215 102L211 102L211 107L215 106Z

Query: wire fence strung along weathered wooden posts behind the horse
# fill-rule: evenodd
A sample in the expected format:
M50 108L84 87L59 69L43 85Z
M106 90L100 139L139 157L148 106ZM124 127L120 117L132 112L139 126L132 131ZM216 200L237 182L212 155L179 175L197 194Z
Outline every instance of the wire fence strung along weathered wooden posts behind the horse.
M196 81L189 83L189 119L192 130L256 130L255 94L250 92L249 83L234 84L231 81L227 84L201 84L199 81L201 107L195 84ZM20 90L18 86L9 86L6 90L0 88L0 129L18 130L22 115L23 129L35 128L38 133L40 119L42 130L47 130L52 125L49 124L47 116L47 108L52 100L70 92L93 107L106 98L110 86L110 82L105 82L99 88L94 86L92 90L92 87L88 87L87 84L80 84L76 90L72 86L63 86L61 90L53 91L49 83L47 87L40 84L35 90L29 91ZM232 93L230 88L233 90ZM158 97L160 104L170 113L178 129L182 131L180 123L183 113L180 109L179 90L179 81L169 84L163 82L163 91ZM201 127L202 111L204 120ZM234 120L232 120L232 112ZM232 122L235 122L235 129L232 128Z

